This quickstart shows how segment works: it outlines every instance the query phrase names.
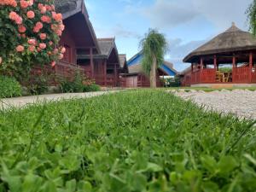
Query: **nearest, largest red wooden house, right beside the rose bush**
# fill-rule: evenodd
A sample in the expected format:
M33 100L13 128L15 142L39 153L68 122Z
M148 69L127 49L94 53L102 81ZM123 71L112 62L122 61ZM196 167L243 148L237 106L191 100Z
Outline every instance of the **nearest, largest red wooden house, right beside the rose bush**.
M78 65L79 51L90 55L90 72L93 72L93 55L101 54L101 49L90 23L84 0L55 0L55 8L63 15L65 30L62 33L60 45L66 48L64 58L55 66L56 75L62 78L72 78L75 71L85 73L84 68ZM92 73L85 74L93 78Z

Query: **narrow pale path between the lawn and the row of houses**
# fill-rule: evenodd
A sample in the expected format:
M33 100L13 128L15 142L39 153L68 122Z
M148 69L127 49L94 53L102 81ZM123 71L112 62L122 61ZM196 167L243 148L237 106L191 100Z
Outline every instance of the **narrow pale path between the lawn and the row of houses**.
M112 91L98 91L89 93L66 93L66 94L52 94L52 95L42 95L42 96L21 96L10 99L0 99L0 108L21 108L30 104L40 103L40 102L56 102L61 100L76 99L76 98L90 98L93 96L102 96L109 93L115 93L118 90Z

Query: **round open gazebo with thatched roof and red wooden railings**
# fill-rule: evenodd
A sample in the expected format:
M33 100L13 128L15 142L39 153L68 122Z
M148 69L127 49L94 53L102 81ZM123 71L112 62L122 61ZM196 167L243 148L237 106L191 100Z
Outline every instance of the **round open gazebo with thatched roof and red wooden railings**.
M256 83L253 58L256 38L232 23L228 30L192 51L183 61L192 63L190 84L252 84ZM232 65L232 70L221 73L220 65Z

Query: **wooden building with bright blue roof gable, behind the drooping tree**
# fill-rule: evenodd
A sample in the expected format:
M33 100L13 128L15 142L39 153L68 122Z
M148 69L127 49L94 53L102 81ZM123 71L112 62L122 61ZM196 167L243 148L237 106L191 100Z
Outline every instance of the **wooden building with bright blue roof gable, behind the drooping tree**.
M121 86L122 87L150 87L148 76L143 72L141 61L143 60L142 52L134 55L129 61L127 61L128 73L121 73ZM162 86L160 77L165 76L174 77L177 71L173 68L173 64L165 61L157 70L157 86Z

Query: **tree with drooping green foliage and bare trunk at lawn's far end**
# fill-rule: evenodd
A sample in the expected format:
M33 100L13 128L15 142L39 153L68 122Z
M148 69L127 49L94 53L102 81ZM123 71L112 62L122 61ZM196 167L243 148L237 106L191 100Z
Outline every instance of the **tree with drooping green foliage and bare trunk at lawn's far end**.
M150 76L150 86L156 87L156 70L164 62L167 41L163 34L155 29L149 29L140 44L143 54L143 70Z

